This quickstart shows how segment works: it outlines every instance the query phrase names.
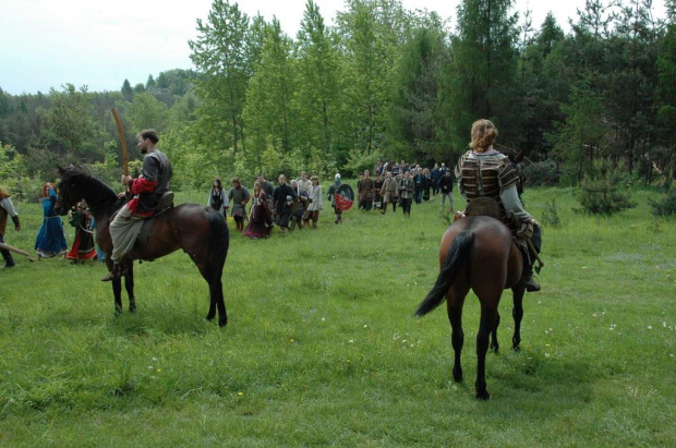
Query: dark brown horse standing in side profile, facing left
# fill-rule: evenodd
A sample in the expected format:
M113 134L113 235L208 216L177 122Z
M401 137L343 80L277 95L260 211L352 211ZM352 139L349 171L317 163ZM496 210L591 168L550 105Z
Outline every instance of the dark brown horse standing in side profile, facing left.
M61 177L57 213L65 215L79 201L85 199L96 221L96 242L106 254L108 270L112 268L112 240L109 226L117 210L124 204L108 185L73 167L57 167ZM152 220L147 222L147 220ZM226 219L210 207L198 204L181 204L171 207L152 218L146 219L142 233L148 238L138 238L125 259L128 273L124 275L124 287L129 295L129 310L134 312L134 270L133 259L154 261L182 249L193 261L200 274L209 284L209 312L207 320L216 317L218 325L228 323L226 303L222 292L222 270L229 246L229 231ZM146 232L146 226L150 226ZM122 312L122 281L112 280L114 313Z

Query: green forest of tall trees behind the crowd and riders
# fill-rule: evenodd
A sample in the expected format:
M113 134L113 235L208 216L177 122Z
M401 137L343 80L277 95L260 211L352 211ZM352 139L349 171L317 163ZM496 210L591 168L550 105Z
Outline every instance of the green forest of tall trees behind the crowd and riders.
M214 177L253 181L258 171L352 175L388 158L451 165L479 118L523 152L532 184L576 185L612 166L625 182L671 185L676 1L665 0L667 16L656 20L652 0L588 0L567 34L553 15L533 24L512 5L464 0L451 31L435 12L396 0L347 1L326 26L307 1L291 37L276 19L215 0L189 43L196 70L123 80L119 92L0 88L0 186L35 196L68 162L116 183L111 108L132 171L135 133L159 131L176 190L208 187Z

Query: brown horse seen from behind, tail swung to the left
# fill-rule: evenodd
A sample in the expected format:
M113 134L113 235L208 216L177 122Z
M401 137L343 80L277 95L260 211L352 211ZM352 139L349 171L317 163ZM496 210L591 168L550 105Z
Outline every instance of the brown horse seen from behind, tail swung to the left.
M472 204L480 199L474 199ZM493 201L493 199L488 199ZM494 202L494 201L493 201ZM495 203L495 202L494 202ZM497 203L495 203L497 204ZM418 306L417 316L424 316L446 300L455 352L452 377L462 382L460 354L464 343L462 306L470 289L479 298L481 317L476 334L476 398L487 400L485 362L488 344L498 351L498 304L503 290L511 289L515 332L512 349L521 343L524 287L519 286L523 270L521 251L511 231L492 216L467 216L455 221L444 233L439 249L439 274L434 288ZM491 341L490 341L491 338Z

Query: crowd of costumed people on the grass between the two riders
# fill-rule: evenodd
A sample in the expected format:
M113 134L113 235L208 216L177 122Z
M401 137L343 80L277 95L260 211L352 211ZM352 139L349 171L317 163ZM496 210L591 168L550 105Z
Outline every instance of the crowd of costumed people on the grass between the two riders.
M454 211L451 169L446 164L435 164L433 169L420 165L394 161L378 161L371 177L371 170L359 174L357 182L357 205L361 210L387 213L391 204L405 216L411 215L411 205L422 204L440 194L442 210ZM335 195L342 185L340 173L336 173L326 199L334 210L334 222L342 222L342 209L336 204ZM273 185L258 173L252 189L242 185L240 178L231 180L230 189L224 186L221 179L214 179L207 197L207 206L234 221L239 233L251 239L268 238L277 226L281 235L295 229L317 228L319 214L324 209L324 192L317 175L307 177L301 171L298 179L288 180L285 174Z

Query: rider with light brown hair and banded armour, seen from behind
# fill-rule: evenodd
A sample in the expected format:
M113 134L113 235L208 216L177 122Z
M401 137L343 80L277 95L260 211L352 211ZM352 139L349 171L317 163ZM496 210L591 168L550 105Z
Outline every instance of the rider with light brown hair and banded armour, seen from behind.
M523 209L519 199L519 174L509 158L493 148L497 129L491 121L475 121L471 136L470 150L460 157L456 166L460 193L468 206L476 197L492 197L499 204L503 222L521 242L518 246L523 252L523 274L519 284L529 292L540 291L540 284L533 279L532 257L536 254L531 254L528 247L532 243L536 253L540 253L542 232L538 221ZM518 222L511 219L512 214Z

